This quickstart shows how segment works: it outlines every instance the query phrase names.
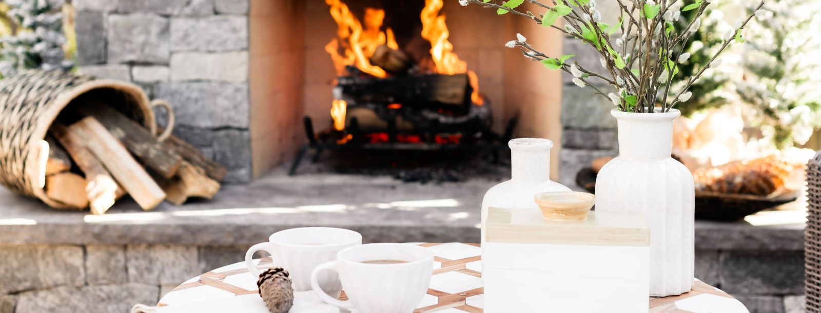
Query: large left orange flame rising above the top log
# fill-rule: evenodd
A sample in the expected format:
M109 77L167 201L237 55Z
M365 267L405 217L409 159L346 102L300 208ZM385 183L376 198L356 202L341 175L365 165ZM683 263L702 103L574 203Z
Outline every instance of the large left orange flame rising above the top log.
M353 15L345 3L340 0L325 0L325 3L331 7L331 16L338 26L337 38L325 45L325 51L331 55L337 74L345 75L345 66L356 66L370 75L385 77L385 70L371 65L369 61L380 45L384 44L393 49L399 48L393 37L392 29L388 28L384 32L379 30L385 18L385 11L366 8L365 28L363 29L360 20ZM340 46L343 49L342 54L339 52Z

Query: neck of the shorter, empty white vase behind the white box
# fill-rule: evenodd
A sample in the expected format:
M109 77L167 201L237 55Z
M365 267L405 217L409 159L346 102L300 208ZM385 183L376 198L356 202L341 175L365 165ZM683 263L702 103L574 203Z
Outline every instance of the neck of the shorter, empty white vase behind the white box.
M511 180L544 183L550 180L550 148L548 139L518 138L511 147Z

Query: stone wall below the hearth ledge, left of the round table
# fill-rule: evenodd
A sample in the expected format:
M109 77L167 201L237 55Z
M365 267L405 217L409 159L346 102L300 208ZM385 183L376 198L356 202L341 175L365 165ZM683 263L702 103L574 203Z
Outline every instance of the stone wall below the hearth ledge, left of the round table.
M155 305L248 247L0 245L0 313L122 312Z

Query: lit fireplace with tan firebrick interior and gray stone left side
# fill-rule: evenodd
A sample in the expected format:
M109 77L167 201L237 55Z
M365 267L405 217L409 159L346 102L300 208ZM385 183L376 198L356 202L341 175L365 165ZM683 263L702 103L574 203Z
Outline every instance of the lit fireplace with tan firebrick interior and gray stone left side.
M227 181L294 161L312 138L351 147L489 147L506 133L561 142L560 73L504 47L519 32L562 53L562 34L529 20L456 0L121 4L77 3L80 71L168 100L175 134L225 165ZM361 32L341 34L332 12L342 5L342 24L355 18ZM372 38L351 49L354 35Z

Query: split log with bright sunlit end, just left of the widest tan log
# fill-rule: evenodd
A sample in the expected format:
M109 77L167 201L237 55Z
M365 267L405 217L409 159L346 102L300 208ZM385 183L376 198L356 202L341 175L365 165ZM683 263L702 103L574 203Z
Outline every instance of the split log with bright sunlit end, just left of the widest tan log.
M117 198L125 194L125 190L108 173L97 157L87 149L76 131L69 131L65 125L55 121L49 129L54 138L57 138L66 152L85 174L85 194L89 198L92 214L103 214L114 205Z

